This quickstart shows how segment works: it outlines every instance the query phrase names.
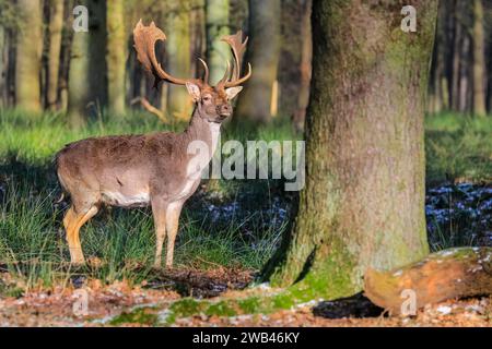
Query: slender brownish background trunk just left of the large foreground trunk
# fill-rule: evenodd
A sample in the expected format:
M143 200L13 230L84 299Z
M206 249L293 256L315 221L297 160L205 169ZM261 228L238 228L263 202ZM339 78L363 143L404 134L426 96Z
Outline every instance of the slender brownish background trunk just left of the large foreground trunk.
M303 23L301 28L302 52L301 52L301 85L297 97L297 110L294 113L294 127L301 131L304 129L307 104L309 103L311 85L311 61L313 58L313 40L311 34L311 13L313 0L303 0Z

